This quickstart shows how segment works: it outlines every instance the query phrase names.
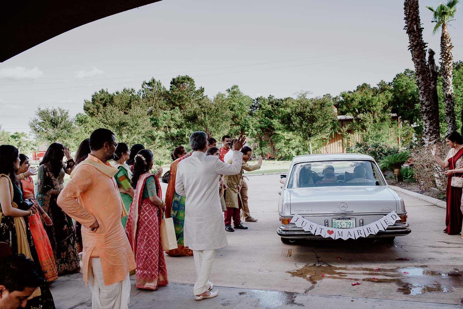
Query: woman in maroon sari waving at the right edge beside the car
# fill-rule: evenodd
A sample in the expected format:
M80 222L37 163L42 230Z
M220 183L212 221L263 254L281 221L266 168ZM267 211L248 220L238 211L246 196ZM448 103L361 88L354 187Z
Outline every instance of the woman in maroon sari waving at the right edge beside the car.
M449 154L444 161L437 156L437 146L434 145L431 153L441 167L449 168L444 173L448 175L447 190L447 212L445 214L444 233L448 235L460 234L462 230L463 214L461 207L462 188L451 185L453 177L463 176L463 138L458 132L452 132L445 136L445 142L450 146Z

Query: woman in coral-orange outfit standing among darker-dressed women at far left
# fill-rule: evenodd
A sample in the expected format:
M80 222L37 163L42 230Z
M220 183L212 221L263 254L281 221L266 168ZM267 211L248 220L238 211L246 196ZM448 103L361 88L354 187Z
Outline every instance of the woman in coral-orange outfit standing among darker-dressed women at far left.
M31 176L27 176L29 167L31 167L29 158L25 154L19 154L19 169L16 174L21 180L20 185L23 192L23 199L35 201L34 181ZM24 175L26 175L26 177ZM35 175L35 173L33 173L33 175ZM38 211L33 216L28 217L29 228L31 229L32 239L37 250L40 266L44 272L45 280L50 282L58 278L58 272L56 270L50 240L42 224L42 219L46 225L51 225L53 222L51 222L50 216L48 216L42 207L38 204L37 206Z

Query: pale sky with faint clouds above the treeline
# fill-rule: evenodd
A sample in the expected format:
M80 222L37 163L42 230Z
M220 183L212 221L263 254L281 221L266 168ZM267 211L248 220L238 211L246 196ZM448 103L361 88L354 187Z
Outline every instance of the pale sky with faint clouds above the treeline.
M421 0L424 39L439 52ZM463 12L451 23L463 60ZM0 63L0 124L29 131L38 106L72 114L101 88L166 87L188 74L213 97L234 84L250 95L338 95L413 68L403 0L163 0L82 25ZM438 61L436 59L436 61Z

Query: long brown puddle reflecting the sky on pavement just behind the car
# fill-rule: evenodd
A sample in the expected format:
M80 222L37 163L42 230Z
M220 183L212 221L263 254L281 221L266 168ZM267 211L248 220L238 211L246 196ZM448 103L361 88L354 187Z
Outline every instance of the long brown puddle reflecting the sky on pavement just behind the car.
M405 274L404 272L408 272ZM427 266L373 268L339 267L329 264L306 265L295 271L288 272L294 277L306 279L312 284L306 291L310 291L322 279L340 279L355 281L368 281L374 283L394 283L397 291L406 295L419 295L431 292L446 293L453 288L463 288L463 271L455 268L450 272L439 272ZM324 275L322 277L321 275ZM373 277L377 279L373 279Z

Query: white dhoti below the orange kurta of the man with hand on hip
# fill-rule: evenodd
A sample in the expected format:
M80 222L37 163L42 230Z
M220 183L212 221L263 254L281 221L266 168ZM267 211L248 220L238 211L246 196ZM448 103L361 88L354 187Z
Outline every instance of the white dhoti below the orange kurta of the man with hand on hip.
M130 298L129 273L124 280L105 285L100 258L90 258L87 273L92 291L92 309L128 309Z

